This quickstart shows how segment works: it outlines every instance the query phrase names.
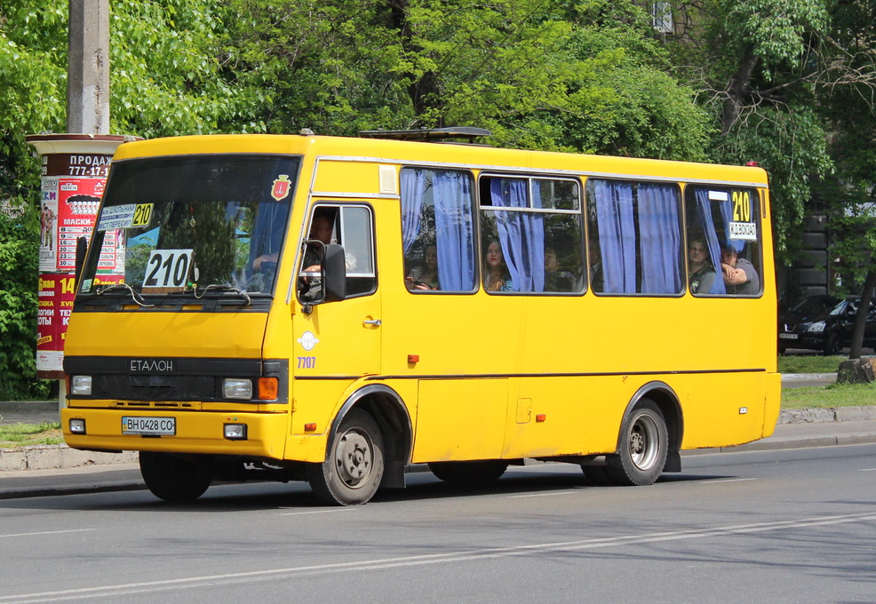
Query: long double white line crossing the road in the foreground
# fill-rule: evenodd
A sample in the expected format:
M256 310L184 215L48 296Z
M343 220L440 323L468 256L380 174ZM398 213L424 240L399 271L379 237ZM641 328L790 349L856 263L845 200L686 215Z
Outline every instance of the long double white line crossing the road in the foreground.
M726 527L704 528L698 530L677 530L644 535L627 535L560 541L542 544L515 545L511 547L484 547L460 552L433 553L398 558L378 558L355 562L336 562L310 566L251 570L248 572L225 573L222 575L189 576L179 579L161 579L129 584L96 585L78 589L54 592L21 593L0 596L4 604L35 604L36 602L60 602L84 600L100 597L119 597L134 593L166 592L170 590L213 587L216 585L244 584L262 581L265 578L291 578L294 576L318 576L341 572L370 571L380 568L405 568L430 564L453 564L468 560L490 560L510 556L526 556L538 552L569 552L594 550L606 547L629 546L629 544L659 543L680 541L682 539L704 539L717 536L765 533L774 530L813 528L850 522L876 521L876 513L850 513L837 516L816 516L798 521L757 522L754 524L730 525Z

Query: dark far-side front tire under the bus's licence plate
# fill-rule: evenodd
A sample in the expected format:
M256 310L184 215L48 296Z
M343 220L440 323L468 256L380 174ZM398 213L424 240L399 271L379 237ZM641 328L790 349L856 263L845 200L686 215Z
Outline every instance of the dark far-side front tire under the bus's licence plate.
M170 453L140 451L139 471L155 497L172 503L195 501L213 481L209 465Z

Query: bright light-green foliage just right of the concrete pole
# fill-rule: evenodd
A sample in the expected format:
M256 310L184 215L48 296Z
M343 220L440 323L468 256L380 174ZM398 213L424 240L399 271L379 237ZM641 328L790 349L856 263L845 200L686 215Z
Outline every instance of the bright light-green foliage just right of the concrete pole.
M220 53L234 19L219 0L114 0L111 129L145 138L264 131L254 116L264 95L237 85Z

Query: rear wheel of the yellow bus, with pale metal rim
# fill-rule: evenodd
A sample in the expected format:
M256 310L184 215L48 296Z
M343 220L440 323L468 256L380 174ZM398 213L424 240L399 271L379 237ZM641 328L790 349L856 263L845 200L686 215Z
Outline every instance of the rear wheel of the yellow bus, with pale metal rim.
M617 454L606 457L611 480L623 486L644 486L657 481L666 465L669 438L660 408L649 399L625 417Z

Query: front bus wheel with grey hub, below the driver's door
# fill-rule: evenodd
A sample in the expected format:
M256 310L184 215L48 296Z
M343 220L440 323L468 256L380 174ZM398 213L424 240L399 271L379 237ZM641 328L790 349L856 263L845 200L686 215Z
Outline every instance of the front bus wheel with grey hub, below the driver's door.
M383 436L370 414L353 409L338 426L322 464L307 466L316 497L332 505L362 505L383 479Z

